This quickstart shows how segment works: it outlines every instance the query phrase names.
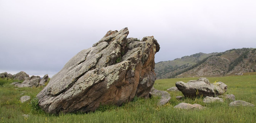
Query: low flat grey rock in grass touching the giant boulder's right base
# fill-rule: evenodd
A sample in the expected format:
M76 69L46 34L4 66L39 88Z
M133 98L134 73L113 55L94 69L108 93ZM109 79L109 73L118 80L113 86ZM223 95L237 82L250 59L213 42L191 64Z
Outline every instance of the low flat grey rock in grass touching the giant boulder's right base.
M168 92L156 90L154 87L152 87L149 94L151 96L161 96L161 99L158 102L159 106L165 105L165 103L169 102L171 99L171 96Z

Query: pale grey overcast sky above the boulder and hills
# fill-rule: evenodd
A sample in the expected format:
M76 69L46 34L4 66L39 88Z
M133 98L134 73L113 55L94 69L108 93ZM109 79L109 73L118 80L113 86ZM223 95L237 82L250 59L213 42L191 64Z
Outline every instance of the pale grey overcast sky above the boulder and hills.
M255 0L0 0L0 73L52 77L109 30L154 36L155 62L256 48Z

